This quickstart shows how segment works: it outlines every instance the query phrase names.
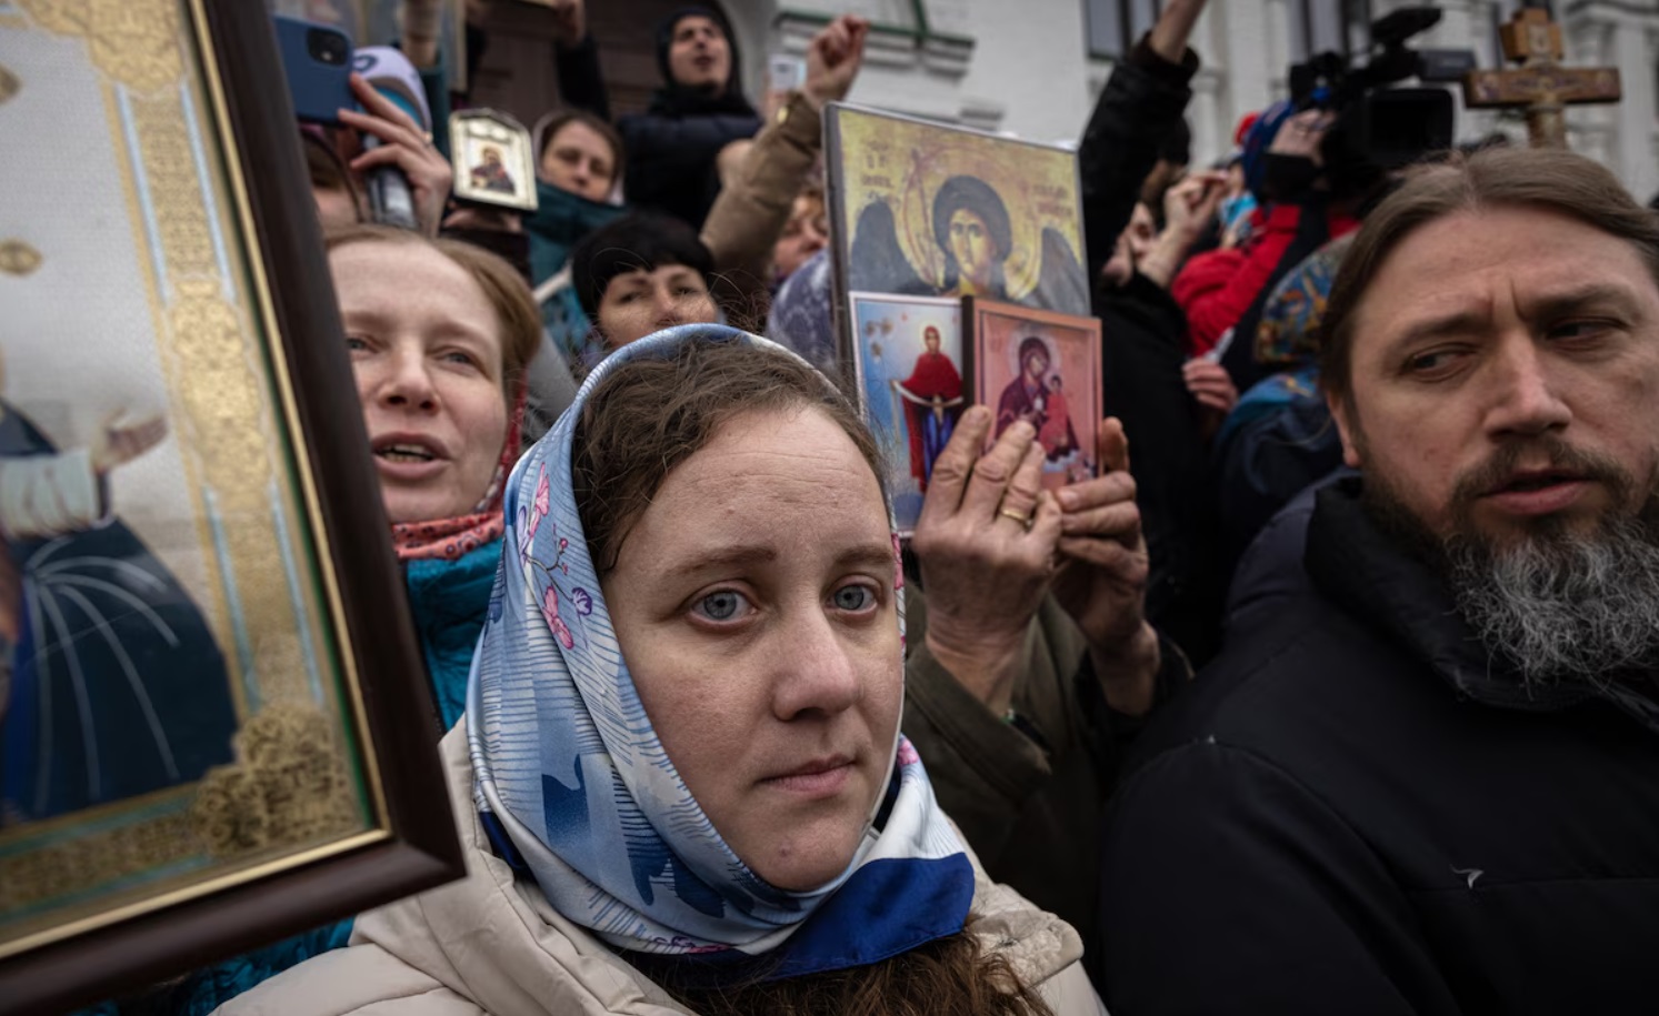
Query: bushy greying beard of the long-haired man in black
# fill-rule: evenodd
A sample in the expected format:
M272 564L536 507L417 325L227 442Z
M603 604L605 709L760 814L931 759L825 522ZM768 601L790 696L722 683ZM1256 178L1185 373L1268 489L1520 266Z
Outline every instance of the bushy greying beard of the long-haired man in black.
M1623 501L1614 494L1614 502ZM1458 615L1528 686L1606 686L1659 663L1659 497L1652 492L1637 515L1603 517L1588 534L1543 519L1506 544L1480 534L1467 514L1457 534L1437 537L1370 476L1365 502L1384 529L1440 573Z

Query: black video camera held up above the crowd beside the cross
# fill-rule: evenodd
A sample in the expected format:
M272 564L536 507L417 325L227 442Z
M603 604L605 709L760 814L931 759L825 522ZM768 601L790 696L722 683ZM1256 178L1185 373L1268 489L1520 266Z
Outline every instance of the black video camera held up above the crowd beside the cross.
M1473 50L1412 50L1407 40L1440 22L1435 7L1404 7L1370 25L1372 53L1354 66L1337 53L1319 53L1291 68L1297 109L1332 109L1339 129L1327 136L1331 166L1370 164L1399 169L1452 148L1453 106L1445 88L1390 88L1415 78L1462 81L1475 68Z

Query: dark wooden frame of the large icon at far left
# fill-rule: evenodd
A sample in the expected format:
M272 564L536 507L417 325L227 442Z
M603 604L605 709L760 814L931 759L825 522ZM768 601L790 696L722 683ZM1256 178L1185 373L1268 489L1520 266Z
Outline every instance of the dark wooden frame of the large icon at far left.
M139 0L174 3L174 0ZM204 118L221 129L229 171L241 177L244 207L227 217L249 245L264 302L265 368L287 378L294 443L304 456L315 517L333 583L337 663L357 675L357 719L372 746L383 834L362 845L319 850L315 859L242 872L178 902L134 915L88 922L86 930L0 960L0 1011L46 1013L143 991L173 975L259 945L347 918L380 903L465 875L436 752L431 693L392 554L377 474L322 235L312 212L294 111L264 5L249 0L179 0L181 31L192 45L186 75L214 96ZM201 65L192 65L192 53ZM294 433L292 428L289 431ZM343 842L343 840L342 840ZM224 883L222 887L219 887Z

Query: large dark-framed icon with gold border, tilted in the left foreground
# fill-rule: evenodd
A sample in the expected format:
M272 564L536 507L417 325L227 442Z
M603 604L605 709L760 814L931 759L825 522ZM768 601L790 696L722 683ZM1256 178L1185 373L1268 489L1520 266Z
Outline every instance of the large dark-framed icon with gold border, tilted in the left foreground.
M0 0L18 1011L463 872L270 22L100 10Z

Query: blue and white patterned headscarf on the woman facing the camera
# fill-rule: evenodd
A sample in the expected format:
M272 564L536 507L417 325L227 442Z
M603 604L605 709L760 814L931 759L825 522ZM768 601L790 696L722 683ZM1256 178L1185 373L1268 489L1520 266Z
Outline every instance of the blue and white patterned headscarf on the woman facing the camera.
M816 890L786 892L732 852L645 716L587 554L571 459L594 389L622 363L674 356L688 341L793 356L733 328L660 331L599 365L513 471L503 564L468 688L478 807L559 913L620 948L771 953L768 976L780 978L952 935L972 902L972 867L898 731L888 794L848 868ZM902 623L901 610L901 635Z

